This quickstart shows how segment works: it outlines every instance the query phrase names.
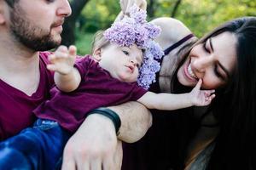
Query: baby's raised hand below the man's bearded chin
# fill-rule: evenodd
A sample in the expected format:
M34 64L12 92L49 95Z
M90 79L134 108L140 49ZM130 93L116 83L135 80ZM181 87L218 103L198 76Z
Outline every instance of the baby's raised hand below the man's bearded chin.
M50 64L47 65L49 71L57 71L62 75L67 75L73 70L73 65L77 55L75 46L60 46L54 54L49 55Z

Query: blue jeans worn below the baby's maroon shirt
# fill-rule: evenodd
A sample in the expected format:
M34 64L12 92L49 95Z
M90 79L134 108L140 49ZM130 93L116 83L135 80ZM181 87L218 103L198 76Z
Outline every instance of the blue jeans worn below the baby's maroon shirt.
M0 169L55 169L70 136L57 122L38 119L0 143Z

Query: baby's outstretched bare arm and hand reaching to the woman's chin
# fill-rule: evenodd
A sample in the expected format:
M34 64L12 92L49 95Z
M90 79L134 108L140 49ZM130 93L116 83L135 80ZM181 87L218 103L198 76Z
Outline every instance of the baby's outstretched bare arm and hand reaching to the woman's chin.
M214 90L200 90L201 80L188 94L154 94L147 92L137 101L148 107L148 109L177 110L192 105L209 105L215 97Z

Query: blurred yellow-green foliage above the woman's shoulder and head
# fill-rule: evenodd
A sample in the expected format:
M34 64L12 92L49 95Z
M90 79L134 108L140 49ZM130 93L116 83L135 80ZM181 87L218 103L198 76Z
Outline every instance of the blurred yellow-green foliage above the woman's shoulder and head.
M179 0L155 1L159 5L154 10L154 18L172 16L181 20L198 37L227 20L256 16L255 0L182 0L180 3ZM178 8L174 10L175 6Z

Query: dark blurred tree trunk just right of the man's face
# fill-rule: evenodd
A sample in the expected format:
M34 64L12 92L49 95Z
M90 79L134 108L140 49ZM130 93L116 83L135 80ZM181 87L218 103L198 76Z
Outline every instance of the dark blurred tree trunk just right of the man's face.
M88 3L89 1L90 0L73 0L70 3L70 6L72 8L72 14L69 17L67 17L63 25L63 31L61 33L62 45L70 46L74 44L75 42L74 31L75 31L76 20L78 19L79 14L83 10L86 3Z

